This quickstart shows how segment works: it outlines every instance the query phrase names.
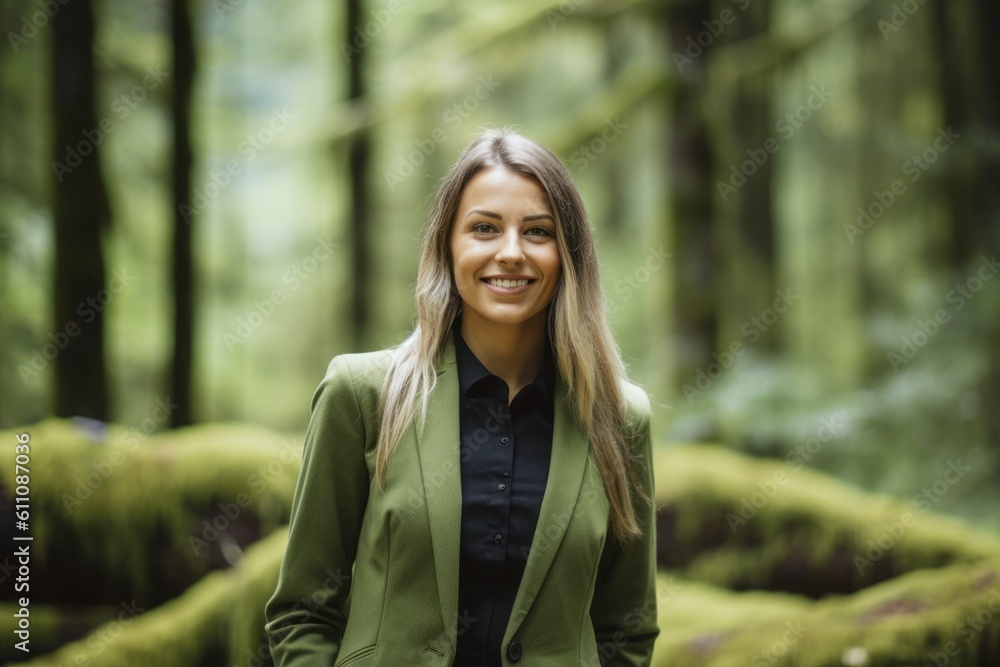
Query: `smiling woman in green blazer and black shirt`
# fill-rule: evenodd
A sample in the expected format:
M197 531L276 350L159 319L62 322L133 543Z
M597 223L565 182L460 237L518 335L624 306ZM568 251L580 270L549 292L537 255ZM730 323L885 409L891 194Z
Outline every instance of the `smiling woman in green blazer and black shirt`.
M416 307L403 343L335 357L313 397L266 608L275 664L650 664L649 401L555 155L472 142L438 190Z

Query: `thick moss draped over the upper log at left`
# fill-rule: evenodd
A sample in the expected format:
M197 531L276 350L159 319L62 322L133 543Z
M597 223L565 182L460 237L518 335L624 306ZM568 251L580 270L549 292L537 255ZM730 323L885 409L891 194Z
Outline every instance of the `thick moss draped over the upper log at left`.
M182 579L210 569L198 543L203 521L227 524L233 510L267 534L288 517L301 444L243 425L198 426L147 437L111 425L95 442L71 421L16 431L31 436L33 566L74 567L143 597L161 576L164 554ZM13 457L0 460L0 492L12 496ZM245 505L240 506L240 503ZM209 529L209 536L211 533ZM128 536L128 539L123 539ZM256 534L253 535L256 538ZM211 540L209 545L215 546Z

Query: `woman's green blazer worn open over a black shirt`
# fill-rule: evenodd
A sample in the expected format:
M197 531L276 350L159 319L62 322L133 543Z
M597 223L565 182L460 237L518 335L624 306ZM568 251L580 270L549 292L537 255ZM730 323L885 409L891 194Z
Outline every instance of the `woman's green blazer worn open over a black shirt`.
M422 430L374 480L378 395L390 352L335 357L313 396L277 589L265 615L277 667L450 666L458 633L462 487L451 338ZM626 392L640 479L653 498L649 399ZM659 634L655 505L623 548L590 443L557 383L552 458L504 634L503 664L649 665ZM352 567L353 566L353 567Z

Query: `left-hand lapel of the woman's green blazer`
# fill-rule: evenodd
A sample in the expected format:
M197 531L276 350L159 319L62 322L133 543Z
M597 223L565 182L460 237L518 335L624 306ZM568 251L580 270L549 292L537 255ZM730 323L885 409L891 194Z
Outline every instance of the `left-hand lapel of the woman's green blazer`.
M427 406L427 423L417 433L417 452L427 499L441 615L444 627L455 631L462 533L458 391L455 344L449 336L438 368L437 387Z

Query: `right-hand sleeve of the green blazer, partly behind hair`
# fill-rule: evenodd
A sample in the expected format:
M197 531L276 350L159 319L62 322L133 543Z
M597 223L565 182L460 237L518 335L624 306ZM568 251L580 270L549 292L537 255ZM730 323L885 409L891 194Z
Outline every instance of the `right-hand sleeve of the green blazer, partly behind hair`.
M649 499L638 508L642 535L626 546L609 535L590 607L602 666L648 666L660 633L656 601L656 501L649 399L636 432L638 475Z

